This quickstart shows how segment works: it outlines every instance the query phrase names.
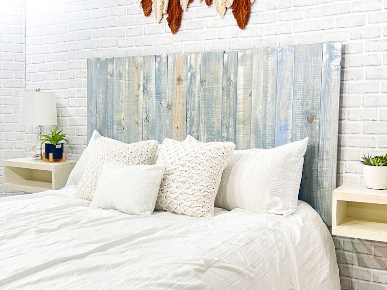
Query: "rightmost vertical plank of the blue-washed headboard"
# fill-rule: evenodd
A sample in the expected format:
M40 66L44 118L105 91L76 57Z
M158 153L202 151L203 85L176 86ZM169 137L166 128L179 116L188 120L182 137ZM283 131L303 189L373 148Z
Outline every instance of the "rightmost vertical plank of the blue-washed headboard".
M328 225L331 225L332 190L337 176L341 54L341 43L324 44L315 209Z

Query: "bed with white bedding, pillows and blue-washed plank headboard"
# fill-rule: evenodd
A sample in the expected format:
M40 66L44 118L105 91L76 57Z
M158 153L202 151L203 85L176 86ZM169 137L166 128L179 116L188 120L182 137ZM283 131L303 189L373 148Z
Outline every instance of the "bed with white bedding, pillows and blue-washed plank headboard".
M89 145L66 187L0 199L1 289L340 289L340 55L89 60Z

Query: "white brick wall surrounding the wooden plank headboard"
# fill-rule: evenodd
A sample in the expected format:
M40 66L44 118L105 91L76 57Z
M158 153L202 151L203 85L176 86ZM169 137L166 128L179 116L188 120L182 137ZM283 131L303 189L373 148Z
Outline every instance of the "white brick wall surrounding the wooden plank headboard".
M86 144L87 58L327 41L344 44L338 183L363 182L361 155L387 151L386 0L255 0L243 31L231 11L220 19L212 7L194 1L174 36L165 17L159 24L153 14L145 18L134 0L26 2L25 49L20 45L22 14L3 15L0 9L0 159L23 154L24 139L27 146L34 140L31 128L24 137L24 127L17 124L15 96L24 88L24 52L26 89L57 93L59 125L70 140L66 150L78 158ZM3 3L0 8L6 7ZM16 3L22 7L24 1ZM12 11L20 10L12 5ZM15 28L18 33L9 33L13 26L21 26ZM343 289L387 289L387 269L378 266L386 262L387 244L344 238L335 243Z

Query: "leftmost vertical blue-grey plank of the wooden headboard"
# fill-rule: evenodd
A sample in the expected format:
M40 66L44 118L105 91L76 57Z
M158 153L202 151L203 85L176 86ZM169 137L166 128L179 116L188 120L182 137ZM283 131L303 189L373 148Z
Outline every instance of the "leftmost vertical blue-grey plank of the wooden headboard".
M87 60L87 142L97 130L97 60Z

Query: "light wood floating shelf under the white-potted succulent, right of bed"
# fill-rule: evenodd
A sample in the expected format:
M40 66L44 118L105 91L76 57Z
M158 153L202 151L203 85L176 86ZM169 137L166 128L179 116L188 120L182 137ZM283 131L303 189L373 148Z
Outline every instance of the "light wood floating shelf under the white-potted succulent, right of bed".
M347 183L333 191L332 235L387 242L387 190Z

